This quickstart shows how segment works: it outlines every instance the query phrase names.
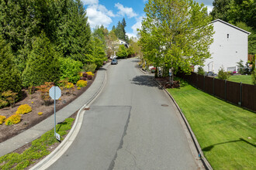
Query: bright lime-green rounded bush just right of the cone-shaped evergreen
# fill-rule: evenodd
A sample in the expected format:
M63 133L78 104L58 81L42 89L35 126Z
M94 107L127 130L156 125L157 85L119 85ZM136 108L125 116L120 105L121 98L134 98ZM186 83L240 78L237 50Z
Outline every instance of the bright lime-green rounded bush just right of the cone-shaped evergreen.
M76 83L80 79L79 73L81 72L83 64L71 58L59 58L61 80L68 79L71 83Z

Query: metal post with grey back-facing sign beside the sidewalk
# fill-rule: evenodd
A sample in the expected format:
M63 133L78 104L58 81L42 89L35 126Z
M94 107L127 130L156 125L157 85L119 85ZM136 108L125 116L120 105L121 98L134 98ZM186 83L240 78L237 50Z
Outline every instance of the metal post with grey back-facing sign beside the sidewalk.
M49 90L49 96L54 99L54 136L58 141L61 141L60 134L56 133L56 100L61 97L61 89L59 87L51 87Z

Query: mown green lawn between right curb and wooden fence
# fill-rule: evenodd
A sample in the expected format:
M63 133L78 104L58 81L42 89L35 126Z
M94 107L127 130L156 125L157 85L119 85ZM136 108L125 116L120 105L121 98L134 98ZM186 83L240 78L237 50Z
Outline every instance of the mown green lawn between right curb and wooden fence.
M168 89L213 169L256 169L256 114L190 85Z

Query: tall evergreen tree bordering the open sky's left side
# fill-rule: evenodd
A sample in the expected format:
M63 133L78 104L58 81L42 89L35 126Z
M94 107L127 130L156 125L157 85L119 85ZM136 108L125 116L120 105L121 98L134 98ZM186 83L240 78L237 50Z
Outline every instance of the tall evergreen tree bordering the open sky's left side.
M81 0L66 0L67 10L61 16L57 29L57 50L64 56L85 63L85 53L91 29Z

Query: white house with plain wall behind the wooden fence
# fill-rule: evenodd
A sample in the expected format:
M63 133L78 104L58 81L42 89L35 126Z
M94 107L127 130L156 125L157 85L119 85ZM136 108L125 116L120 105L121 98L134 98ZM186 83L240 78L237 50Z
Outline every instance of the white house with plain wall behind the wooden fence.
M213 24L213 44L209 46L212 54L210 59L206 59L203 66L205 71L218 73L223 66L226 71L237 71L237 62L242 59L247 62L248 55L248 35L250 32L233 26L230 23L216 19ZM198 66L195 67L195 71Z

